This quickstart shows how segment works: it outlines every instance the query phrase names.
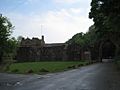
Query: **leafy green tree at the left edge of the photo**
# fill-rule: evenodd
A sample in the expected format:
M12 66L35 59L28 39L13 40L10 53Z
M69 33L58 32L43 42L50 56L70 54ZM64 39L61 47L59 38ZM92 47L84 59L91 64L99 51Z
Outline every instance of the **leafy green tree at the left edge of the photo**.
M3 54L6 52L12 29L13 26L8 18L0 15L0 63L2 62Z

